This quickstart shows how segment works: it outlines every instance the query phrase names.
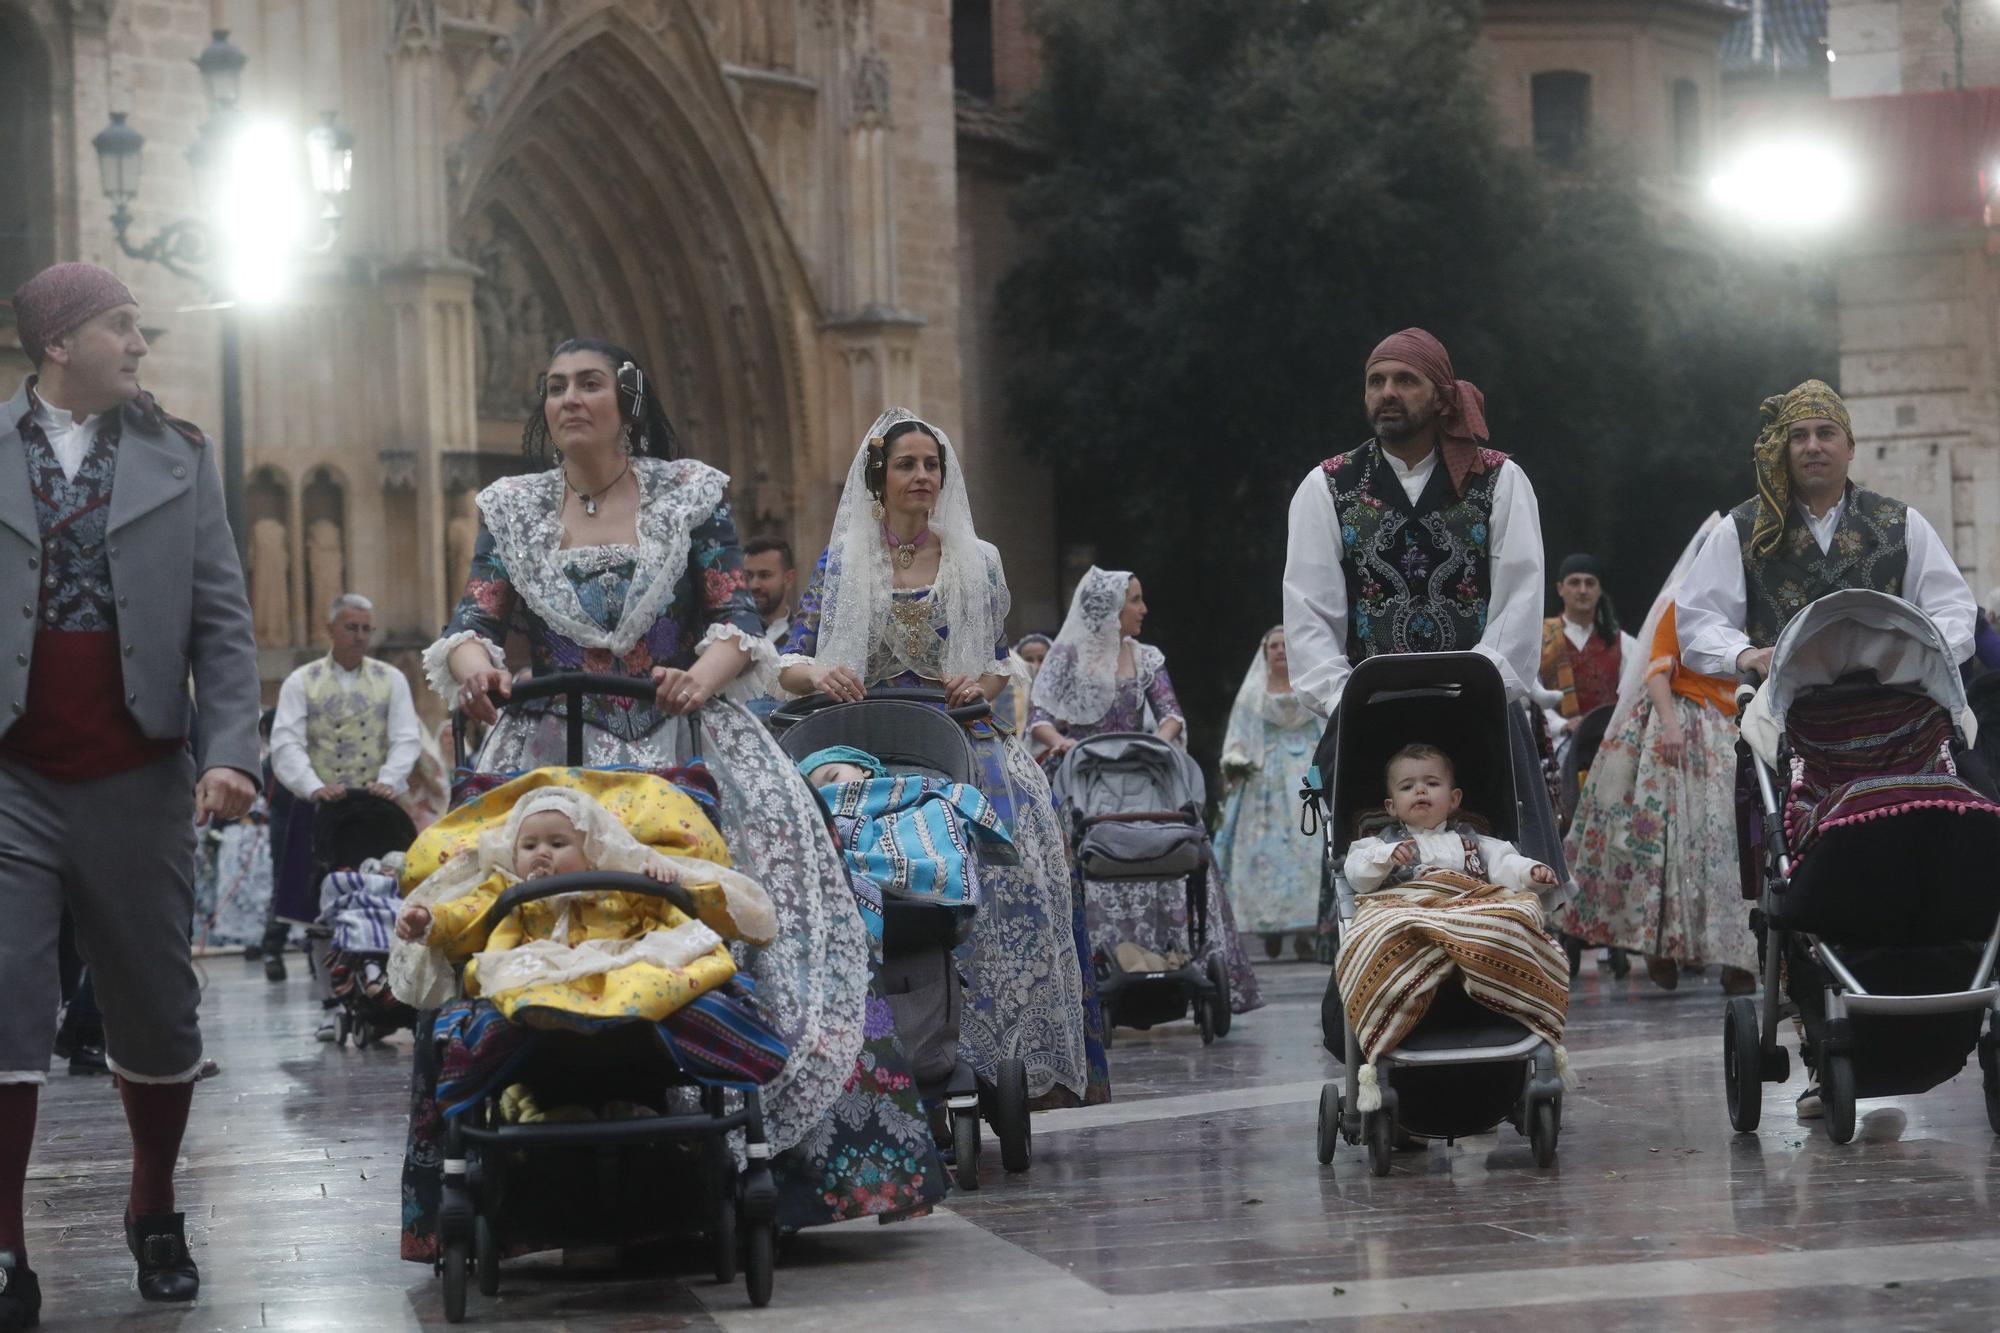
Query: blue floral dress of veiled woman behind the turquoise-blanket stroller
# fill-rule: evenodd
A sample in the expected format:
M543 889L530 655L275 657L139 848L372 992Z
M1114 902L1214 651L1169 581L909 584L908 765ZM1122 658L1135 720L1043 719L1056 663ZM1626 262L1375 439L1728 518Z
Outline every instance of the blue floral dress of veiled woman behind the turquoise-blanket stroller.
M784 664L806 662L820 642L828 554L822 552L792 618ZM1004 586L998 590L1004 596ZM950 636L930 588L894 590L892 632L904 648L930 644L936 656ZM998 616L996 616L998 618ZM928 636L928 638L926 638ZM994 673L1006 673L1006 638L994 644ZM924 677L870 652L870 685L934 687ZM1110 1061L1098 1039L1098 993L1090 975L1082 905L1070 887L1070 861L1048 795L1048 775L1028 749L992 721L966 729L978 765L978 789L992 803L1020 851L1018 867L980 867L986 909L960 945L966 1015L960 1043L982 1077L1006 1055L1028 1067L1036 1109L1110 1099Z

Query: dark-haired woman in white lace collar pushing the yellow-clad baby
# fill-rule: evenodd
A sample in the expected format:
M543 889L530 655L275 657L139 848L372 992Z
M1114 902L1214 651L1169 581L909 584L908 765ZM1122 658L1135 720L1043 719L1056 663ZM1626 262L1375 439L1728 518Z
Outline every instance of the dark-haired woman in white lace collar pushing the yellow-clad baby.
M652 378L598 338L554 350L522 452L542 470L478 494L464 598L424 652L430 685L450 707L496 723L478 755L482 775L566 763L564 701L504 719L488 701L512 691L510 632L526 638L534 675L652 681L652 699L584 701L586 767L684 765L698 717L698 749L720 789L716 823L736 867L766 887L778 913L770 945L736 951L760 1011L792 1051L764 1089L780 1225L876 1211L860 1189L828 1185L840 1157L866 1159L930 1197L930 1129L914 1095L882 1091L888 1081L868 1075L904 1063L892 1025L870 1017L886 1005L870 993L868 933L846 867L830 837L798 837L824 823L818 797L742 707L768 693L776 650L744 576L730 478L674 456ZM406 1235L404 1253L424 1259L426 1245Z

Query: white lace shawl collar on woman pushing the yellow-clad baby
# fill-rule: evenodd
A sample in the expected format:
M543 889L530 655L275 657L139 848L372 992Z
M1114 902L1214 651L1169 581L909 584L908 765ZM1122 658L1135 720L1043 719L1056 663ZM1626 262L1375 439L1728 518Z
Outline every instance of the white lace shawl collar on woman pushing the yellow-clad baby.
M568 578L572 556L620 560L630 548L562 546L562 468L530 476L502 476L480 492L480 516L492 532L514 590L544 622L584 648L624 656L654 626L688 568L694 528L708 520L730 478L694 458L634 458L638 476L638 550L624 614L610 630L584 610Z

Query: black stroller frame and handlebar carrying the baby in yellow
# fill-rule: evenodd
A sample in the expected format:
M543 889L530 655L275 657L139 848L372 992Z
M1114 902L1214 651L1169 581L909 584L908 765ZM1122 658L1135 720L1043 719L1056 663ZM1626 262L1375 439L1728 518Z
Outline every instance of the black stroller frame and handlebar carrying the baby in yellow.
M542 699L566 699L568 761L578 767L584 757L582 701L588 695L650 701L654 687L642 679L564 673L522 681L508 699L494 697L494 703L508 711ZM454 749L462 757L462 715L454 717ZM486 921L492 925L522 903L578 889L650 895L696 915L694 901L680 885L662 885L644 875L586 871L518 883L500 895ZM430 1031L426 1017L418 1033ZM564 1183L560 1193L568 1201L560 1221L532 1217L540 1233L560 1231L566 1247L618 1245L658 1229L664 1201L688 1197L690 1155L704 1187L696 1195L706 1195L702 1203L708 1205L706 1237L714 1251L716 1281L734 1281L740 1261L750 1303L768 1305L778 1189L770 1175L770 1147L764 1143L756 1089L744 1089L740 1105L730 1109L724 1089L698 1085L678 1069L662 1069L664 1057L652 1045L614 1041L610 1035L550 1037L554 1041L536 1047L526 1063L508 1073L508 1083L566 1091L598 1087L614 1097L648 1103L664 1101L668 1089L694 1087L698 1107L642 1119L508 1125L502 1123L496 1087L476 1107L452 1115L446 1121L444 1197L438 1207L444 1317L450 1323L466 1317L468 1277L476 1277L480 1295L498 1293L500 1255L508 1249L510 1227L530 1221L528 1201L544 1203L552 1193L538 1185ZM744 1169L738 1169L728 1149L728 1135L736 1131L744 1135ZM578 1193L584 1199L576 1199Z

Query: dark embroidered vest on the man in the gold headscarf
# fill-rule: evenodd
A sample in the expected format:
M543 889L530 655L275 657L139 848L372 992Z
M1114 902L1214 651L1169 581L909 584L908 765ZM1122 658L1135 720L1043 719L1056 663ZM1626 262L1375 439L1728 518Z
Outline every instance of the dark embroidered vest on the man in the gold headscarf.
M1758 648L1778 642L1792 616L1840 588L1874 588L1902 596L1902 570L1910 558L1910 510L1902 500L1848 482L1848 502L1822 552L1812 530L1794 512L1768 556L1750 554L1756 500L1730 510L1744 552L1744 632Z

